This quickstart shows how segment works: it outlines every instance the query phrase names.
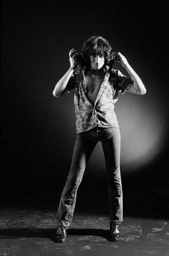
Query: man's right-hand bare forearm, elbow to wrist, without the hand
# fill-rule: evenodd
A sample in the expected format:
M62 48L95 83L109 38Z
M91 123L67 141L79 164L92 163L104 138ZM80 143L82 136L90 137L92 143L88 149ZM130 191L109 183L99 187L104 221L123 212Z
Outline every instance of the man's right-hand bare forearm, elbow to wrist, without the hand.
M133 89L136 90L136 93L139 95L144 95L146 93L146 88L142 82L142 80L139 78L138 74L133 70L133 68L129 65L129 63L125 64L125 69L130 75L131 79L134 81L132 86Z

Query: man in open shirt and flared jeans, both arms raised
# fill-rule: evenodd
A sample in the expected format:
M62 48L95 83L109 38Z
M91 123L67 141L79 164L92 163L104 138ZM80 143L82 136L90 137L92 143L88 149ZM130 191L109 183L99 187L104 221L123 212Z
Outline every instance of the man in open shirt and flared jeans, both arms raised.
M115 54L109 42L100 36L87 39L80 55L71 49L70 69L56 84L53 95L62 96L74 89L77 139L73 150L69 176L65 183L57 212L57 242L67 240L78 186L98 141L104 151L109 187L110 240L120 237L119 225L123 221L123 193L120 177L120 131L114 112L118 92L144 95L142 80L121 54ZM112 69L117 59L127 70L127 78Z

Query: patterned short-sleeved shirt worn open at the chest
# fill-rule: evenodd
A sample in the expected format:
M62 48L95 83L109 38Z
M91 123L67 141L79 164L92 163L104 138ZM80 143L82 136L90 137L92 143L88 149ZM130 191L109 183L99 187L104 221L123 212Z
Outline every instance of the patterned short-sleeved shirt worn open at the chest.
M77 133L88 131L96 126L119 127L114 104L118 100L118 92L124 93L133 80L127 78L119 70L110 69L101 83L95 105L88 100L85 80L85 69L78 67L74 78L68 83L69 92L74 89L74 108L76 114Z

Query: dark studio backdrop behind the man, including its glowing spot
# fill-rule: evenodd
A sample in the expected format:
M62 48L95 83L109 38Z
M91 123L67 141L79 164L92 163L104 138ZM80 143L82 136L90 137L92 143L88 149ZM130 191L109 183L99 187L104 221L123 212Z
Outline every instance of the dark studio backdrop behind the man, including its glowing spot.
M52 91L69 69L69 50L80 52L87 38L100 35L126 56L147 89L144 96L120 95L115 106L124 214L168 216L166 5L2 1L1 7L2 205L57 208L76 126L73 92L55 98ZM108 212L100 144L79 187L77 210Z

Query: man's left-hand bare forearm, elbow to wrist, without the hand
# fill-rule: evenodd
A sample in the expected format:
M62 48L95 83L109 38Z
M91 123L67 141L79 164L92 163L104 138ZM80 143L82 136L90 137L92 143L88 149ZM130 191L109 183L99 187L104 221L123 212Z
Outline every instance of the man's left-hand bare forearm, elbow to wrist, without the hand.
M54 87L53 95L55 97L59 97L61 93L65 90L67 87L68 81L73 74L74 69L70 67L70 69L65 73L62 78L57 82L57 84Z

